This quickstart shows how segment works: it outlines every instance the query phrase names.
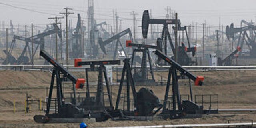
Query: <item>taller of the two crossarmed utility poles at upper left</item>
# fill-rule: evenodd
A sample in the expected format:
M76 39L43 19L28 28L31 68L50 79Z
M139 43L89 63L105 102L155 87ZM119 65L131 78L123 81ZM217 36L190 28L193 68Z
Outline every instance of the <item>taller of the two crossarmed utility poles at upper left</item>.
M66 64L68 65L68 15L74 14L74 12L68 12L68 10L72 10L71 8L64 8L66 12L60 12L60 14L64 14L66 16Z

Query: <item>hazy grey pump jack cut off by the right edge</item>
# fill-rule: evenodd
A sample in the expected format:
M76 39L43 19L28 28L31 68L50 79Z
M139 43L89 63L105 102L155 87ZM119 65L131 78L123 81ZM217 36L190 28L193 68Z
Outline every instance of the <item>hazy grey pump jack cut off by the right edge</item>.
M242 24L246 24L246 26L242 27ZM240 46L241 50L243 49L244 42L248 46L250 50L250 57L256 57L256 34L255 34L256 26L252 23L246 22L245 20L241 21L240 28L234 28L234 24L230 24L230 26L226 26L226 36L228 40L232 38L232 42L234 42L235 34L239 33L237 46ZM248 34L249 33L249 34ZM239 52L240 56L242 52Z

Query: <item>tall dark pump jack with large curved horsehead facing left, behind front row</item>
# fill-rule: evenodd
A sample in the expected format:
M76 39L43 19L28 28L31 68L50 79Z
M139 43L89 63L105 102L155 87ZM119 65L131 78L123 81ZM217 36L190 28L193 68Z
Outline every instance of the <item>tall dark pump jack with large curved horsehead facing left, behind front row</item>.
M175 19L150 19L148 10L144 10L143 16L142 16L142 36L144 39L147 38L148 35L148 26L149 24L162 24L163 25L163 30L162 30L162 36L161 36L161 42L164 42L164 54L167 55L167 38L169 40L169 44L172 49L172 53L175 54L175 48L172 42L172 38L170 36L170 32L168 29L169 24L176 24ZM181 22L178 19L178 30L182 31L185 30L185 27L181 27ZM188 38L188 37L187 37ZM158 39L159 40L159 39ZM190 58L188 58L187 52L193 52L195 51L196 48L191 48L189 44L189 48L185 49L184 46L181 46L178 50L178 63L181 65L192 65L192 62Z

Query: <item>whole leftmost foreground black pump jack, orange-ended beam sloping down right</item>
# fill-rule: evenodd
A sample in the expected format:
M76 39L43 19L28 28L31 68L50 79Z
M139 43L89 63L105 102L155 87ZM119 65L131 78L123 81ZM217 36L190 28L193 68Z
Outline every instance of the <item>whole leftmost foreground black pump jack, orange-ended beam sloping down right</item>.
M40 56L47 60L50 64L54 66L52 70L52 79L50 84L50 91L48 95L46 114L45 115L35 115L34 121L37 123L46 123L52 118L86 118L88 115L84 114L84 109L78 108L76 102L76 89L83 88L84 79L76 78L63 66L61 66L56 60L52 58L46 51L41 50ZM56 78L56 86L54 86L54 79ZM65 98L62 93L62 82L65 80L70 80L73 83L72 90L74 98L72 102L65 102ZM56 88L57 96L57 108L56 113L50 113L50 106L52 102L52 93L54 88ZM76 88L76 89L75 89Z

